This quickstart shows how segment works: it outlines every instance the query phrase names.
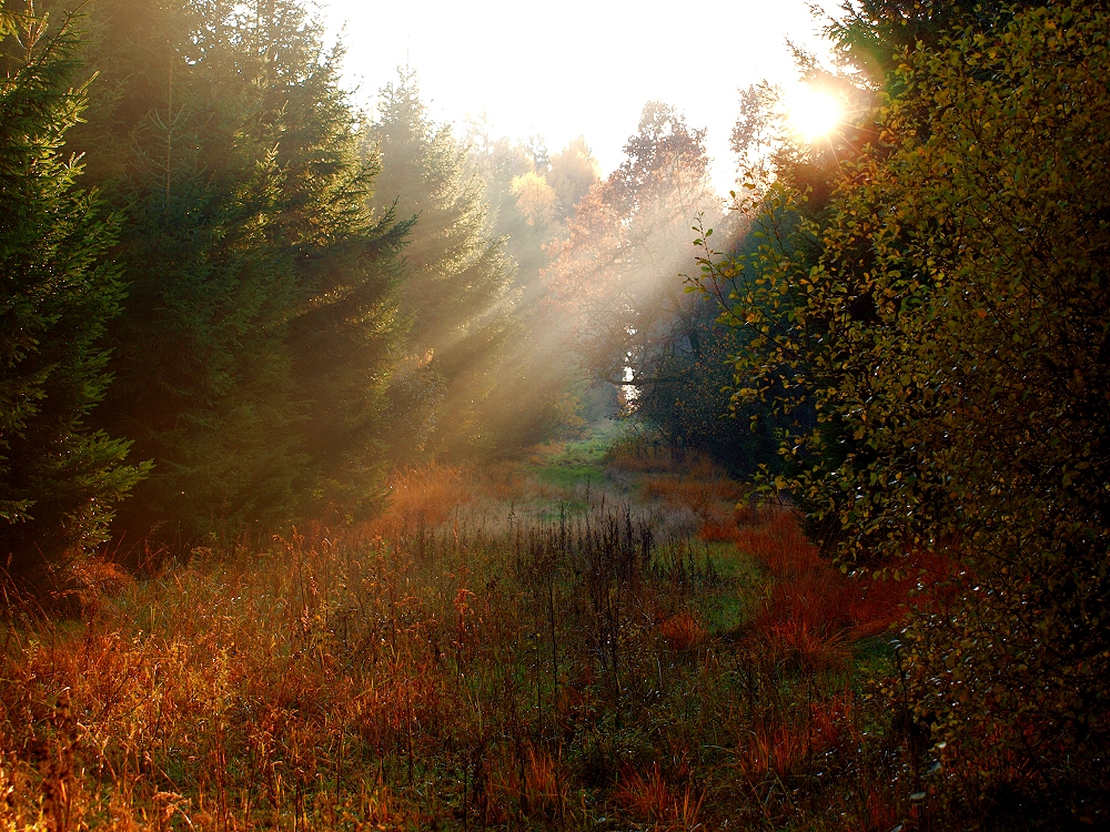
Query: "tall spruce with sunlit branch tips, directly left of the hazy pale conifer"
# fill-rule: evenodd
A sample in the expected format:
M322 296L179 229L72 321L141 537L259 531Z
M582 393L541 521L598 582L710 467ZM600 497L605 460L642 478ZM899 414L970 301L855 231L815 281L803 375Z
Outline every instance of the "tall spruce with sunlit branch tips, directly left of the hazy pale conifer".
M253 55L249 89L262 91L249 135L274 149L281 171L272 243L293 267L286 349L310 501L363 510L381 484L398 257L411 222L372 209L381 174L362 155L359 114L339 83L342 47L325 52L320 26L292 0L260 3L253 26L239 27Z

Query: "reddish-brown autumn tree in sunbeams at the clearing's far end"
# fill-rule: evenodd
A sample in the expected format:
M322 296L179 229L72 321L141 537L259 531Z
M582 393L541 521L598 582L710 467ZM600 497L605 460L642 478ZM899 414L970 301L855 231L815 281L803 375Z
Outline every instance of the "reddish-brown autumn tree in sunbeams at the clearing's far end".
M581 199L546 276L587 373L612 385L655 382L660 348L693 332L679 276L693 263L690 223L716 213L704 131L649 103L625 161Z

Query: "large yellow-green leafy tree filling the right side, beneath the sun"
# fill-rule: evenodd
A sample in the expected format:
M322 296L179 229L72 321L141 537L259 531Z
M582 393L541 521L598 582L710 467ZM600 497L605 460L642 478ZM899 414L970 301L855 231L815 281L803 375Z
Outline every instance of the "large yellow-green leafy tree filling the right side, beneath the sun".
M1059 2L918 42L820 210L786 176L704 262L749 395L814 404L774 485L826 551L949 565L890 691L968 761L941 793L1050 828L1110 812L1108 32Z

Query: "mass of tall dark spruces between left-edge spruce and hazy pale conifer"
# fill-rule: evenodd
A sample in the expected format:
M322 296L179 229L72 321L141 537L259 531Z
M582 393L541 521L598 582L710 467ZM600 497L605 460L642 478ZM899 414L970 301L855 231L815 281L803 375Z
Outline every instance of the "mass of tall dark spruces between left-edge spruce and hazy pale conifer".
M127 216L131 284L101 419L155 461L121 530L364 510L406 225L366 206L340 54L281 0L95 14L103 93L80 138Z

